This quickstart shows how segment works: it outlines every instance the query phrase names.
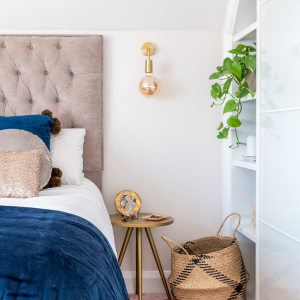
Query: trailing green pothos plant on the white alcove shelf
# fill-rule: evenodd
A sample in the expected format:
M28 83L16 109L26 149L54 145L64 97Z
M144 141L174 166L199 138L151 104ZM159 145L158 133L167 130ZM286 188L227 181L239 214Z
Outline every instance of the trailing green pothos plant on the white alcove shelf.
M256 43L254 43L256 45ZM250 73L254 72L256 69L256 54L252 54L256 52L256 49L252 46L245 46L243 44L239 44L235 49L228 51L229 53L235 54L235 56L231 59L229 57L225 58L222 66L217 66L217 72L210 75L209 80L211 79L220 79L225 80L224 83L214 83L211 85L211 96L220 102L212 102L212 105L222 105L225 100L229 97L230 99L225 102L223 114L233 112L227 119L226 123L222 122L217 127L219 131L217 138L227 138L228 132L234 131L236 136L235 146L234 144L229 146L229 148L234 149L239 146L239 144L245 144L244 142L240 142L238 140L236 128L241 125L241 121L239 120L239 115L241 113L241 101L240 99L246 96L248 93L251 96L254 96L254 91L249 89L247 78ZM229 92L229 88L231 83L235 82L238 85L238 91L234 93L234 96Z

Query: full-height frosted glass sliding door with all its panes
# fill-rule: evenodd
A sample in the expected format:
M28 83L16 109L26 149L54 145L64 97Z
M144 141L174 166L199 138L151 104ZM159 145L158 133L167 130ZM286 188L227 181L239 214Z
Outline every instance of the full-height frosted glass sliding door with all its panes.
M299 16L300 0L260 5L259 300L300 300Z

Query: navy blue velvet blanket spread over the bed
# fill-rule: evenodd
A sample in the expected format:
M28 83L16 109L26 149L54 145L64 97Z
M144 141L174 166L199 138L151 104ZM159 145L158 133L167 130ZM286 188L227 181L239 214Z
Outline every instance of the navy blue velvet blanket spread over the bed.
M129 300L102 232L56 210L0 206L1 300Z

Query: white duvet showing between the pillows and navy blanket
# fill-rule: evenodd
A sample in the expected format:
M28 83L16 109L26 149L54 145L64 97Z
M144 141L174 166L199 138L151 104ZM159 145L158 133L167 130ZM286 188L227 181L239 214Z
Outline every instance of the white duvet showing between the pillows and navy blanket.
M38 197L0 198L0 205L59 210L78 215L94 224L105 235L116 255L112 226L96 185L82 178L80 185L62 185L39 191Z

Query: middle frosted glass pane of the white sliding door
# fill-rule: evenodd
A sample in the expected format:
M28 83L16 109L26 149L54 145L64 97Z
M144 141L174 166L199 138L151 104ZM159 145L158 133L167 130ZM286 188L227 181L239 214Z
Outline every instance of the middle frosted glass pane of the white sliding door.
M260 218L300 239L300 110L260 115Z

